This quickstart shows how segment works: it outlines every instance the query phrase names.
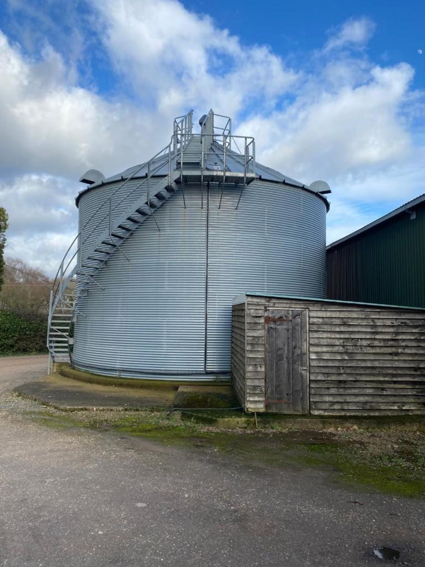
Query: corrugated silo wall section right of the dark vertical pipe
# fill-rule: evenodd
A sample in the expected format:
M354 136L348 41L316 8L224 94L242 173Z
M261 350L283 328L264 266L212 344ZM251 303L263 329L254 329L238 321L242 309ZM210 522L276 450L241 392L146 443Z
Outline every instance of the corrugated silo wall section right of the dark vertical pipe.
M230 368L232 298L244 291L326 297L326 206L270 181L209 198L207 370Z

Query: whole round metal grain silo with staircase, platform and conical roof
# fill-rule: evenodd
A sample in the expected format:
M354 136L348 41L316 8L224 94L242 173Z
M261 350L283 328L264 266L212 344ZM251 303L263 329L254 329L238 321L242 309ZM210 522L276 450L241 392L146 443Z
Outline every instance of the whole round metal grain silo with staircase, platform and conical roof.
M71 343L74 366L94 373L226 379L235 295L326 297L326 188L256 163L254 139L233 136L227 117L210 111L193 133L192 116L148 162L80 179L78 236L52 295L53 361Z

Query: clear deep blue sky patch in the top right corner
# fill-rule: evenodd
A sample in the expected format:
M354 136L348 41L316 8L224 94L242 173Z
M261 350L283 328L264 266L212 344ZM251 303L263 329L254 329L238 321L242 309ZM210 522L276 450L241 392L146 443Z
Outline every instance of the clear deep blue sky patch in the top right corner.
M425 87L425 64L418 65L417 53L420 48L425 52L425 4L418 0L191 0L184 5L189 10L213 14L218 26L231 29L244 43L269 44L282 57L291 54L299 61L308 61L309 53L320 49L333 28L342 22L367 16L376 24L367 46L372 60L385 64L406 61L417 70L414 87Z

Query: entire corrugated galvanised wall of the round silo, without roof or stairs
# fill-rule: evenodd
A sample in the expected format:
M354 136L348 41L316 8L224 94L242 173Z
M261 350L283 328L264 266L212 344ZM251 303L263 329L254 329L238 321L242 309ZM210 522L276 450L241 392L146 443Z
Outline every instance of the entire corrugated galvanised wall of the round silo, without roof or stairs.
M114 187L81 197L80 222ZM85 317L75 325L76 367L136 376L228 372L235 295L325 297L320 197L258 180L244 189L236 210L239 189L224 189L220 209L219 194L212 187L201 209L200 187L188 186L184 209L177 192L155 213L161 231L146 219L122 244L130 261L117 251L99 270L96 281L105 290L93 285L78 306ZM103 230L100 223L93 242Z

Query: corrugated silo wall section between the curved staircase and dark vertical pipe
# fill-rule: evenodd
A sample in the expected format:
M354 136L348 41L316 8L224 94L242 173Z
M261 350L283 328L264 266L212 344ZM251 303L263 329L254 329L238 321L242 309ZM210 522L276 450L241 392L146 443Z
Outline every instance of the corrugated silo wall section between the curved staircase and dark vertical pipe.
M87 194L87 198L90 192ZM80 299L74 363L104 374L203 372L206 209L175 193L99 270ZM80 208L84 206L80 203Z

